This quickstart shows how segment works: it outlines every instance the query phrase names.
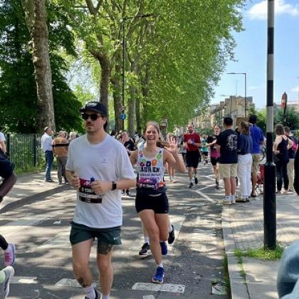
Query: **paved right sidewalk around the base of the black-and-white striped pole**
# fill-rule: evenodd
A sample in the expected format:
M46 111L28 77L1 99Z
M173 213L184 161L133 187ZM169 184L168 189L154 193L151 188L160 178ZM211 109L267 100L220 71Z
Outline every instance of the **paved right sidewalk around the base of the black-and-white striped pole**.
M286 194L276 196L277 241L288 246L299 238L299 196ZM263 246L263 197L248 203L223 206L222 229L228 256L232 299L278 298L276 277L279 261L261 261L242 258L241 265L234 255L236 248L261 248Z

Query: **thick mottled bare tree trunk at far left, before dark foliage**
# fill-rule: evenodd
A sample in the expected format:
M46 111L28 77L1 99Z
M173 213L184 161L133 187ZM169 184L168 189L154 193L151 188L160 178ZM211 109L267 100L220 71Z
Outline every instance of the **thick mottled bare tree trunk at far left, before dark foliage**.
M33 45L38 98L37 129L42 132L44 127L49 126L56 130L45 0L22 0L22 5Z

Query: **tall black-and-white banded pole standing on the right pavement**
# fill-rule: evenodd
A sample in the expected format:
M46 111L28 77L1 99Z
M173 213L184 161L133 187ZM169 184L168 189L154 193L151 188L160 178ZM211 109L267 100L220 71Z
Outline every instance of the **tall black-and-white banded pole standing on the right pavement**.
M273 163L274 0L268 0L267 129L263 192L264 248L276 249L276 165Z

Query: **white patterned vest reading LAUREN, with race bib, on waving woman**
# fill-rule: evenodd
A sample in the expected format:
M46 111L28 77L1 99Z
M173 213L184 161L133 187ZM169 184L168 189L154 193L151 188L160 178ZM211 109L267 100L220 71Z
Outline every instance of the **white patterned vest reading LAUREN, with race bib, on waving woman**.
M164 165L163 150L160 148L154 157L147 158L144 155L143 148L138 150L138 188L150 188L157 190L165 186L164 183Z

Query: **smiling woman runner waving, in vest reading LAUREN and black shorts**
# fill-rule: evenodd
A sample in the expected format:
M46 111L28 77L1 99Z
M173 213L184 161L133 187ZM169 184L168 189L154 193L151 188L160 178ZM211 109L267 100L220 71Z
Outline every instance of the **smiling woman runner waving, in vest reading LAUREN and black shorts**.
M167 254L169 228L169 205L164 183L164 164L168 163L184 173L185 167L177 152L175 140L169 140L165 148L157 146L159 125L147 122L145 129L146 147L132 152L132 164L137 164L137 194L135 207L150 237L150 249L157 263L153 283L163 283L164 267L162 254Z

